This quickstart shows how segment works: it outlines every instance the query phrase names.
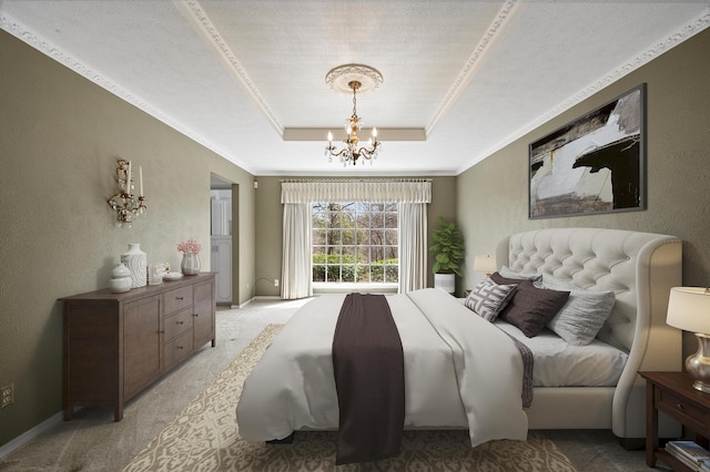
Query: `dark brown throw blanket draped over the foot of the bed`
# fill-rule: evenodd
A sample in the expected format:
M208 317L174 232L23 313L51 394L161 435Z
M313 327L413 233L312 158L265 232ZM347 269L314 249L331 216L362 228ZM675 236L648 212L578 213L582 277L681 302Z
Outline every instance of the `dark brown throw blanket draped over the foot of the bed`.
M399 454L404 429L404 355L383 295L349 294L333 337L339 410L336 464Z

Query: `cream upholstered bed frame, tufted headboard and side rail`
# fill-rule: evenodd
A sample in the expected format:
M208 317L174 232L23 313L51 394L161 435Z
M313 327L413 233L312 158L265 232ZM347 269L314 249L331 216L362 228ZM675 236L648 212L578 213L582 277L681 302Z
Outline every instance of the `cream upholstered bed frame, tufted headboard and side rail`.
M549 274L587 290L613 290L616 304L598 339L628 352L616 387L536 388L530 429L611 429L646 437L641 370L680 371L681 331L666 325L670 288L682 285L682 242L673 236L601 228L555 228L501 239L498 267ZM681 427L661 418L660 434Z

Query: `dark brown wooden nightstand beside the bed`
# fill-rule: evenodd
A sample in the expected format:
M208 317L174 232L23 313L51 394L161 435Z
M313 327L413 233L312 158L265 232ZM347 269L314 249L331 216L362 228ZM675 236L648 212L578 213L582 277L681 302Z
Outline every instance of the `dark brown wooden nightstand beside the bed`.
M696 442L708 449L710 394L692 388L684 372L639 372L646 379L646 464L660 459L674 471L690 471L658 447L658 412L661 411L696 432Z

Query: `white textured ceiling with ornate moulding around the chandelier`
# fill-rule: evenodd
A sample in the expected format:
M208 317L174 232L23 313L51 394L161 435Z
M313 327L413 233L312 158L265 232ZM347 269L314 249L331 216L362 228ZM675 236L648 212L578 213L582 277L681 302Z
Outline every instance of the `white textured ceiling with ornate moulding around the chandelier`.
M456 175L709 25L710 0L0 0L2 29L255 175ZM347 63L384 76L355 168L324 156Z

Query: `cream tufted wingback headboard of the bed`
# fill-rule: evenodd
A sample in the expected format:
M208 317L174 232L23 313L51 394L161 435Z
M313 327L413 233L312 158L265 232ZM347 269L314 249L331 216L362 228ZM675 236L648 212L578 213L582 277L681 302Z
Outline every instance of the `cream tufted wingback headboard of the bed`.
M681 240L620 229L537 229L501 239L496 263L518 273L549 274L588 290L613 290L615 308L598 335L629 352L613 398L613 431L620 438L642 437L642 423L630 420L627 411L641 408L630 403L643 403L638 371L681 370L681 332L666 325L670 288L682 285ZM643 411L633 414L642 417Z

